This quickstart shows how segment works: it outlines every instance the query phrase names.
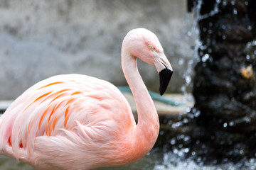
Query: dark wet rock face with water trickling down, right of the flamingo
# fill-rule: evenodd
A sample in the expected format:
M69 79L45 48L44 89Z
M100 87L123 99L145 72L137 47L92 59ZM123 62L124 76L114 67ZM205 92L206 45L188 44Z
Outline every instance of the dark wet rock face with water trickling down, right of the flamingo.
M201 114L193 120L197 131L192 139L203 141L211 155L254 157L256 1L188 0L188 7L198 3L202 3L201 16L206 17L198 21L202 45L193 96ZM216 8L218 12L209 15Z

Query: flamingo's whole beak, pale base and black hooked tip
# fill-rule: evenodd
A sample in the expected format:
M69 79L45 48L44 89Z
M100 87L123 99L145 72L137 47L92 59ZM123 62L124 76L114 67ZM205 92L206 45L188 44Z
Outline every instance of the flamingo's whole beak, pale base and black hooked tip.
M157 72L159 72L160 88L159 93L162 96L167 89L167 86L171 80L173 69L166 56L162 54L160 57L156 57L154 60Z

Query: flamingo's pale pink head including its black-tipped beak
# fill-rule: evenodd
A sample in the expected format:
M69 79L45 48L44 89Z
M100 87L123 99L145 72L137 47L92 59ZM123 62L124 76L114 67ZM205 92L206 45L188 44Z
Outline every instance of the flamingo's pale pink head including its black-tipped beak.
M160 78L159 92L163 95L171 80L173 69L156 35L145 28L130 30L122 46L125 46L132 56L139 57L142 61L156 67Z

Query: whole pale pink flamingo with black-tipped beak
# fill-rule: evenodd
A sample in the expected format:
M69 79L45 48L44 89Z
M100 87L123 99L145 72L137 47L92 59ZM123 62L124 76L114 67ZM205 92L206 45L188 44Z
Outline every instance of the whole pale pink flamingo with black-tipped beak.
M129 31L122 42L122 69L138 111L107 81L58 75L31 86L0 118L0 154L36 169L93 169L129 164L151 150L159 118L137 69L137 57L156 66L160 94L172 68L154 33Z

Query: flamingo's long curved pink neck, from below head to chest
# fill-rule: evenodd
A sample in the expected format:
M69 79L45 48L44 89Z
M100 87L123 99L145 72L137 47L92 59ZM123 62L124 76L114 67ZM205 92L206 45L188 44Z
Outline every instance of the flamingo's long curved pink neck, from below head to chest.
M138 113L138 124L134 129L132 140L134 147L139 147L138 150L142 151L137 154L142 154L140 156L143 157L156 142L159 134L159 117L137 69L137 57L130 55L125 48L122 49L122 69L132 90Z

